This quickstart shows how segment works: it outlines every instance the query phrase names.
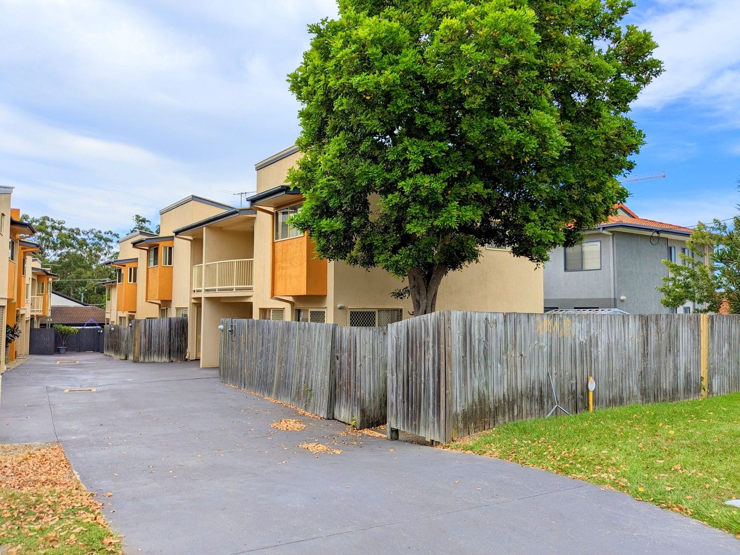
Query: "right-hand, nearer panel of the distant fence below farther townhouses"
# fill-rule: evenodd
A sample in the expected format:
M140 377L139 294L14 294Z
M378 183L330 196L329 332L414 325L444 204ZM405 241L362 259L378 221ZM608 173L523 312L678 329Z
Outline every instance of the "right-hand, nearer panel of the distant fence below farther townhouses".
M129 358L135 363L185 360L187 318L133 320Z

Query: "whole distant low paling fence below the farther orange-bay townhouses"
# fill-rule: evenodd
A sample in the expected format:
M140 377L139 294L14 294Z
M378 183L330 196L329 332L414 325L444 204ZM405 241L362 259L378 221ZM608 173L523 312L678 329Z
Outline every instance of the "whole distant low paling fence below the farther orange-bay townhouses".
M135 363L185 360L187 318L132 320L131 326L105 326L104 354Z

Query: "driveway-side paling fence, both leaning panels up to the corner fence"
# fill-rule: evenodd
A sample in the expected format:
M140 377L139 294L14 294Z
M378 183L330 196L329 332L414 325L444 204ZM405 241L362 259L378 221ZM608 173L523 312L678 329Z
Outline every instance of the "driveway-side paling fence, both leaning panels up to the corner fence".
M386 331L221 320L224 383L357 428L386 422Z

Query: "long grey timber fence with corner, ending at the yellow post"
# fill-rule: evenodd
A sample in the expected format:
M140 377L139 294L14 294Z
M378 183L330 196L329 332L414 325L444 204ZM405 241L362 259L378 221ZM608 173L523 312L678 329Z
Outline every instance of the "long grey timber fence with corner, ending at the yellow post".
M596 408L696 399L699 343L690 314L445 311L404 320L388 329L388 426L448 441L545 416L553 387L560 406L583 411L589 376ZM727 372L736 376L738 364Z

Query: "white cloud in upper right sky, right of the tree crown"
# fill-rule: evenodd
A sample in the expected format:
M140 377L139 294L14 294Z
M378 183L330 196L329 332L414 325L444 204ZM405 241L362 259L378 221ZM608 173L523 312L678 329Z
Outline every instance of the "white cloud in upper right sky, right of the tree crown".
M689 99L728 110L740 99L740 10L737 0L662 1L639 26L653 32L665 73L636 107ZM717 104L719 101L719 105Z

